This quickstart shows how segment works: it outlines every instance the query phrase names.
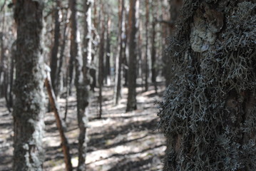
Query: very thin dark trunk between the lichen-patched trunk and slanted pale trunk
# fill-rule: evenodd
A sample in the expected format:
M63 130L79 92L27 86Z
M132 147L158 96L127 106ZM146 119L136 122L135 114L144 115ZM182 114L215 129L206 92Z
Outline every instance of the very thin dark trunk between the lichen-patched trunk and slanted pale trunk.
M103 87L103 60L104 60L104 42L105 42L105 14L104 14L104 5L101 4L101 42L98 56L98 86L99 86L99 95L98 95L98 103L100 105L100 113L99 118L102 115L102 87Z

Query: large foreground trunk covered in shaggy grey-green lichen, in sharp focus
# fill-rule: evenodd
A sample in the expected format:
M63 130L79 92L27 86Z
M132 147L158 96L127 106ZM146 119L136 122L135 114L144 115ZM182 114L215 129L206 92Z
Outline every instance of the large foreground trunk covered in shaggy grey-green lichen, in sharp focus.
M169 47L164 170L256 170L256 4L197 2L184 1Z

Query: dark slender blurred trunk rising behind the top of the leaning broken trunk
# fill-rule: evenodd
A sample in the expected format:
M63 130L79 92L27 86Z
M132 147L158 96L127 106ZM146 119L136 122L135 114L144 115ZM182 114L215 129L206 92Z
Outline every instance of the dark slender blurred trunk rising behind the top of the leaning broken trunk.
M60 38L60 31L61 31L61 22L60 22L60 12L61 8L61 1L56 0L56 7L54 12L54 20L55 20L55 28L54 28L54 42L53 42L53 48L51 49L51 81L53 85L53 90L56 96L58 96L57 93L57 71L58 71L58 46L59 46L59 38Z

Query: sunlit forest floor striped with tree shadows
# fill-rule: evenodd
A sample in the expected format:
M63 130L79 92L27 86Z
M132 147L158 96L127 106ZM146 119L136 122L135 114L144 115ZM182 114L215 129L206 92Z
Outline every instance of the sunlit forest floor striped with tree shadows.
M123 88L123 97L119 105L113 105L113 86L103 88L103 115L98 119L97 89L90 106L88 128L88 152L86 167L88 171L147 171L161 170L165 153L165 138L157 129L158 117L155 100L163 97L165 86L158 84L158 94L150 86L147 92L137 88L138 110L126 113L128 89ZM58 99L61 116L65 111L66 100ZM61 140L56 128L53 113L45 115L45 137L43 138L46 159L43 170L65 170ZM68 116L66 136L71 145L73 167L78 164L78 126L76 120L75 93L68 98ZM12 115L5 108L4 99L0 99L0 170L11 170Z

